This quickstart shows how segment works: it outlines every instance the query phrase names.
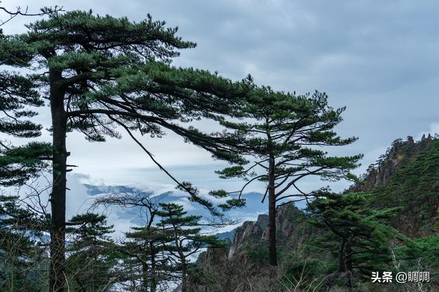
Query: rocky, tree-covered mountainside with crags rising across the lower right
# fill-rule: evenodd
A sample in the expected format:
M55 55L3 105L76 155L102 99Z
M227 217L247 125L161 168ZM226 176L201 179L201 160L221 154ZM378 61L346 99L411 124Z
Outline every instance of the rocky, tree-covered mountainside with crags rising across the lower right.
M374 258L374 250L363 261L378 260L377 269L388 269L394 274L425 269L431 280L422 284L422 291L439 291L438 137L424 135L418 142L412 137L395 140L377 163L370 165L361 181L346 189L342 196L351 194L364 197L364 205L354 215L369 212L384 218L383 214L392 214L374 231L382 234L366 234L371 236L368 244L388 247L388 263L383 260L380 264L379 256L383 255ZM268 217L259 215L256 221L244 222L235 229L228 248L208 249L200 254L198 269L191 275L194 291L318 291L323 287L318 283L329 280L333 280L328 286L330 291L341 291L343 287L346 291L420 291L418 283L403 287L395 281L373 285L369 272L355 267L351 276L337 273L340 253L333 233L318 228L313 214L293 204L279 208L276 220L281 263L276 272L268 265ZM364 222L367 220L370 219ZM365 233L367 228L366 225ZM384 239L385 234L392 232L394 238ZM377 242L377 238L385 244ZM318 248L322 245L326 248Z

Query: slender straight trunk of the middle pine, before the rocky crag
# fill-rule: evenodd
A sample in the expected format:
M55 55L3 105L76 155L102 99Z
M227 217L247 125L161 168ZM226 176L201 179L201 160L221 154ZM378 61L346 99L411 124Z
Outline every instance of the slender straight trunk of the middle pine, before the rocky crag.
M274 189L274 155L272 154L270 154L268 168L268 254L270 265L276 266L276 193Z

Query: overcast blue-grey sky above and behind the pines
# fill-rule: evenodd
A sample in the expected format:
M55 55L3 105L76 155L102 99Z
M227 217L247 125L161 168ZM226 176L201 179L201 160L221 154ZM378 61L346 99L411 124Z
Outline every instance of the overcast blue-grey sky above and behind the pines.
M330 105L346 106L337 132L342 137L359 137L355 144L335 150L342 155L364 154L357 174L397 138L411 135L419 139L423 133L439 131L438 1L2 2L8 8L27 4L31 12L51 5L61 5L64 10L92 9L97 14L128 16L132 21L141 21L150 13L170 27L178 26L179 36L198 44L182 51L174 60L175 66L217 71L233 80L250 73L258 84L298 94L327 92ZM3 29L7 34L24 32L23 24L32 19L15 18ZM43 109L38 121L48 125L48 114ZM211 129L211 124L202 127ZM41 140L48 139L46 132ZM234 190L241 185L240 181L219 180L213 171L224 163L213 161L202 149L183 143L176 135L141 140L181 180L202 189ZM155 191L174 188L128 137L90 144L72 133L68 148L69 163L80 166L70 176L72 184L147 185ZM311 187L324 185L327 183L314 181ZM348 185L338 183L333 188L342 190ZM261 185L249 191L262 191ZM72 192L72 205L80 205L84 189Z

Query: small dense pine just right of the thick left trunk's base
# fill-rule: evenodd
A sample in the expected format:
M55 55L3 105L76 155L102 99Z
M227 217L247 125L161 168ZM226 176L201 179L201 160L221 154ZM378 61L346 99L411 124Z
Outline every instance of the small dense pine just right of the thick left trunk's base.
M69 221L67 277L73 291L104 291L117 280L112 274L117 265L115 243L109 236L112 228L104 215L95 213L75 215Z

